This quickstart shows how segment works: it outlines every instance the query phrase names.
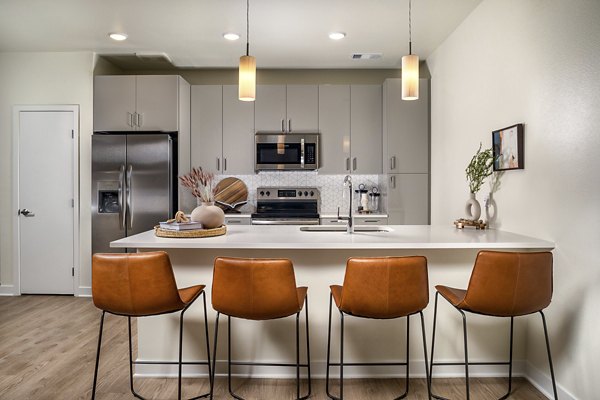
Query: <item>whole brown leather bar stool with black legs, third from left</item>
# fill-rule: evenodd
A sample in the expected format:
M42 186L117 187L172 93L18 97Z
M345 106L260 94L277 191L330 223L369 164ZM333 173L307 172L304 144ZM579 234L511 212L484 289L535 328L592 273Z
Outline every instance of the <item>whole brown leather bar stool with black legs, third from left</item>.
M340 362L330 362L331 354L331 309L332 299L340 312ZM409 388L409 328L410 316L421 316L425 375L429 393L429 368L427 366L427 344L423 309L429 303L427 259L412 257L365 257L350 258L346 263L344 285L332 285L329 296L329 327L327 333L327 396L339 400L344 398L344 366L406 366L406 386L402 399ZM406 362L403 363L344 363L344 314L353 317L393 319L406 317ZM340 397L329 391L329 369L340 368ZM429 397L430 398L430 397Z

